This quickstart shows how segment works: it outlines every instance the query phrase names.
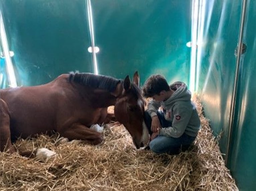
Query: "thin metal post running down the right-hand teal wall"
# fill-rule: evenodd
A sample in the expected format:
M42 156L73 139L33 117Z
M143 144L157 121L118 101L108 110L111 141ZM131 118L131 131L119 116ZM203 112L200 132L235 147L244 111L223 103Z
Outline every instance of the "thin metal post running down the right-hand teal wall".
M242 40L243 40L243 32L244 32L244 21L245 21L245 14L246 14L246 4L247 0L243 0L242 3L242 13L240 19L240 31L239 31L239 38L238 38L238 50L237 50L237 58L236 58L236 71L235 71L235 79L234 79L234 88L232 92L232 100L231 100L231 108L230 108L230 118L229 118L229 132L228 132L228 141L227 141L227 154L225 158L225 164L228 164L229 159L229 152L230 152L230 142L231 136L233 131L233 124L234 124L234 114L235 114L235 104L236 104L236 95L237 95L237 84L238 84L238 73L240 70L240 58L242 54Z

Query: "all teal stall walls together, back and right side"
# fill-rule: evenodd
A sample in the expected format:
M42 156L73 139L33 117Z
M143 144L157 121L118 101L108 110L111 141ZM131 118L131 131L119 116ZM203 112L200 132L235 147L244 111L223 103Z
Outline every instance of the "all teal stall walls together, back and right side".
M242 3L198 1L205 8L197 49L197 92L240 190L256 187L256 1L247 0L230 152L231 99ZM192 1L92 0L99 73L116 78L135 70L189 84ZM47 83L70 71L93 72L85 0L1 0L18 85ZM202 12L200 13L202 14ZM202 25L204 23L204 25ZM200 27L199 27L200 28ZM5 71L1 59L1 73ZM7 82L7 81L6 81ZM4 83L6 86L6 82ZM2 87L2 84L1 84Z

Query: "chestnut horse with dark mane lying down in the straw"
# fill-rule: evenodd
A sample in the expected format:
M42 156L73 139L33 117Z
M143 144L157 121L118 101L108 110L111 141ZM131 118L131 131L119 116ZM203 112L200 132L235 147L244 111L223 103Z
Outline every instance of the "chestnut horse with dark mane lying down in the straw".
M149 141L137 72L133 82L129 76L119 80L91 73L62 74L48 84L3 89L0 95L1 152L14 152L12 142L18 137L51 131L69 140L99 144L103 136L90 126L105 121L110 105L115 106L116 120L129 131L137 149ZM43 148L20 154L31 157L41 152L46 157L53 153Z

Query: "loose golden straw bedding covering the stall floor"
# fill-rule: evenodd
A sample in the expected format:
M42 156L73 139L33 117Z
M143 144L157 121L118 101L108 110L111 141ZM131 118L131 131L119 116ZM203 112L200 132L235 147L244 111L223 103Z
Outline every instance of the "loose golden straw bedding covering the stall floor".
M56 146L58 135L18 140L19 149L46 147L57 153L37 161L0 153L1 190L238 190L225 167L209 121L195 99L202 129L191 148L179 155L137 150L118 123L104 129L103 143L79 142Z

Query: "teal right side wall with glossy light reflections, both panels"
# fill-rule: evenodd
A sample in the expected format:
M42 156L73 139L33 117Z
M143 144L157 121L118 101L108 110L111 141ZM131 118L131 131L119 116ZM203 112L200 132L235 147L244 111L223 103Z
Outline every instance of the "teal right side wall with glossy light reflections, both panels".
M247 45L239 62L237 94L231 147L227 153L231 100L234 89L236 56L242 0L207 1L205 47L201 56L199 91L206 117L220 147L228 154L228 167L239 190L256 188L256 1L246 1L243 43ZM208 26L209 23L209 26ZM225 157L225 155L224 155Z

